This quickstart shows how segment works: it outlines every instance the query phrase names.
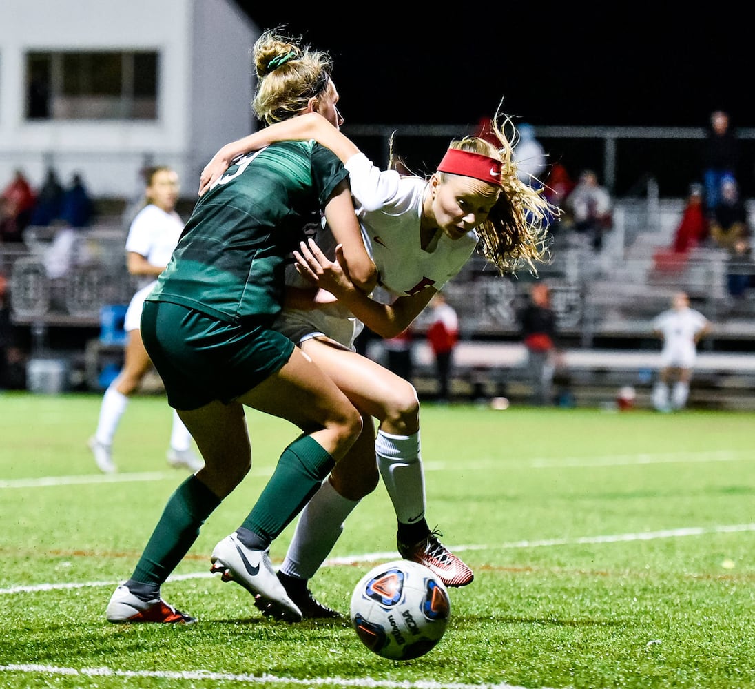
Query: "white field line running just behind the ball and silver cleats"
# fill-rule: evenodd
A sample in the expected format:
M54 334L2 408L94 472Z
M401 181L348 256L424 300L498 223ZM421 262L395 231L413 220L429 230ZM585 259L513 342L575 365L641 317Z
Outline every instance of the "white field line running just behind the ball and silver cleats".
M652 541L661 538L683 538L684 536L704 536L706 533L738 533L742 531L755 531L753 524L729 524L720 527L704 528L689 527L686 529L664 529L660 531L642 531L639 533L617 533L612 536L580 536L575 539L544 539L540 541L513 541L510 543L498 543L495 545L454 545L451 550L462 552L465 550L498 550L507 548L543 548L553 545L575 545L584 543L619 543L628 541ZM362 553L361 555L345 555L341 558L328 558L323 565L333 567L339 564L359 564L360 562L373 562L400 558L398 552L374 552ZM168 581L185 581L188 579L208 579L213 573L197 572L193 574L171 574ZM11 589L0 589L0 595L14 593L35 593L39 591L57 591L60 589L86 589L95 586L114 586L121 581L97 581L67 584L35 584L25 586L13 586Z

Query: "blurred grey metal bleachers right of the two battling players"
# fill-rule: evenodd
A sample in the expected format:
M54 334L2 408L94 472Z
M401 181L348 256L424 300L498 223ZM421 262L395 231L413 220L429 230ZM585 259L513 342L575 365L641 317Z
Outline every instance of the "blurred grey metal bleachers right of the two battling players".
M699 345L690 403L755 409L755 291L732 299L728 255L720 249L701 247L670 264L665 251L682 210L682 199L618 201L615 225L599 253L581 237L555 236L553 261L539 270L539 279L553 292L562 361L578 404L610 403L618 388L630 385L637 403L649 406L660 352L652 320L681 289L713 322L713 332ZM475 259L445 288L461 325L458 396L529 398L516 310L532 280L527 274L498 277ZM422 339L422 315L415 325L414 382L421 394L432 395L433 360ZM379 342L372 356L383 356Z

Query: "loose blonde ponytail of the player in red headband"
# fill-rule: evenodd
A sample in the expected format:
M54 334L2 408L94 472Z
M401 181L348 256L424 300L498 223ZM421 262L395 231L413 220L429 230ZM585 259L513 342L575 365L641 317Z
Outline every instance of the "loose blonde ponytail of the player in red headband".
M544 187L533 189L516 175L512 153L519 135L511 119L505 116L504 127L510 125L513 128L509 140L498 124L499 117L497 112L490 128L500 146L480 137L464 137L451 141L449 148L481 153L501 161L501 193L488 218L476 227L479 235L477 252L495 265L501 275L527 267L537 276L535 264L548 264L551 260L548 223L561 211L545 198ZM445 180L446 173L437 174L440 181Z

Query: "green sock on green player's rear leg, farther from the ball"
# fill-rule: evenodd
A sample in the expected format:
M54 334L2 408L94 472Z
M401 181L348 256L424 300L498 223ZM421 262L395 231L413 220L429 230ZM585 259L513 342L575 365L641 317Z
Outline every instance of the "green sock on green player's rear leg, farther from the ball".
M220 498L196 476L183 481L168 499L131 579L159 588L189 552L199 527L217 505Z

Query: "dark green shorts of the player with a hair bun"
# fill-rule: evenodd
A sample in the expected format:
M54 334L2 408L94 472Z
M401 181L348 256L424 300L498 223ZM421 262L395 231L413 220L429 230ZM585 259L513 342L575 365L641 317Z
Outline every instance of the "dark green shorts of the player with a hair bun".
M145 301L141 335L174 409L228 403L282 369L294 343L259 323L224 323L190 307Z

